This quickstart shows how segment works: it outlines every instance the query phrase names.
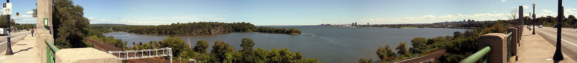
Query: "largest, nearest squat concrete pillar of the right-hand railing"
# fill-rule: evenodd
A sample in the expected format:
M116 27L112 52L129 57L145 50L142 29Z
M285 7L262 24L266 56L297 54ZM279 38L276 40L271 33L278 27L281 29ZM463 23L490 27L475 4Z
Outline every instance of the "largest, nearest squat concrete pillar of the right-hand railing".
M477 50L485 48L485 46L491 47L491 52L489 52L489 62L490 63L504 63L507 62L507 39L503 33L489 33L478 37Z

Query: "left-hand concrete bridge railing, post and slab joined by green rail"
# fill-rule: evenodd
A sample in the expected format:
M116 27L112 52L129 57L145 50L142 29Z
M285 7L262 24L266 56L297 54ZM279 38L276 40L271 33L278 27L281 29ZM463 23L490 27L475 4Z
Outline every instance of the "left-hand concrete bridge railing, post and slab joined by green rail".
M94 48L59 49L54 45L54 36L46 31L36 33L39 55L46 63L121 63L122 61L107 52Z

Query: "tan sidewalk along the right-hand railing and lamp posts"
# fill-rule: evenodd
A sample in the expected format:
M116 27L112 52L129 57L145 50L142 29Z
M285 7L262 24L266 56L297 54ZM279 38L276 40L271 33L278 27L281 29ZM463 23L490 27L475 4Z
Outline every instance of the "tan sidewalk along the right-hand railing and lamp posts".
M525 27L523 27L525 28ZM550 63L553 62L555 46L549 44L545 38L539 34L531 34L532 30L523 29L523 34L518 47L517 56L520 63ZM565 55L565 54L563 54ZM560 63L575 63L571 58L563 56L564 60Z

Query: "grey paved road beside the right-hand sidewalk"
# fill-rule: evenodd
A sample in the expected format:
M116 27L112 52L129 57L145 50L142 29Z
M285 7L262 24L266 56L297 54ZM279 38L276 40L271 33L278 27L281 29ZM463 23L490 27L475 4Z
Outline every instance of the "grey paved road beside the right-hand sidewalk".
M531 28L532 29L532 28ZM545 38L553 46L557 43L557 29L553 27L536 27L535 33ZM533 31L533 30L531 30ZM530 34L530 33L529 33ZM561 50L564 56L569 56L577 61L577 29L561 29Z

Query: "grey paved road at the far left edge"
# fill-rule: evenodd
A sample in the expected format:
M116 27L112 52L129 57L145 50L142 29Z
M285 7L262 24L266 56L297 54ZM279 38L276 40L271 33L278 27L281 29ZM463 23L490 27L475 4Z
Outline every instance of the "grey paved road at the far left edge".
M16 45L16 42L22 40L25 35L30 34L30 31L20 31L16 33L10 33L11 45ZM0 36L0 53L6 52L6 47L8 45L8 36ZM12 52L17 52L18 50L12 50Z

